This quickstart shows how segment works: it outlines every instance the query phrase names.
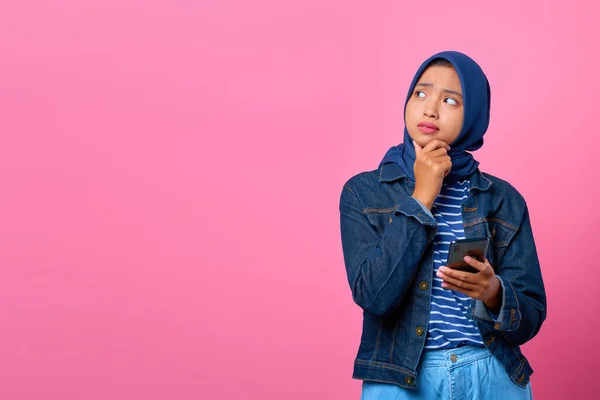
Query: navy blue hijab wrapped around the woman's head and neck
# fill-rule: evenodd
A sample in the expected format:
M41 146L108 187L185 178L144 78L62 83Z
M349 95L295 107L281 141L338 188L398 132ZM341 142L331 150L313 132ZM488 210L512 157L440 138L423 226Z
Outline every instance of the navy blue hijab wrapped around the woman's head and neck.
M412 95L415 85L421 78L429 64L436 59L444 59L450 62L460 79L463 93L464 121L460 134L453 143L449 143L451 149L448 155L452 158L452 170L444 178L445 183L456 182L467 179L479 165L470 153L483 146L483 135L490 122L490 85L481 67L465 54L456 51L444 51L427 59L415 74L406 101ZM394 162L414 182L415 175L413 166L415 163L415 148L408 130L406 130L406 118L404 128L404 143L394 146L388 150L379 166Z

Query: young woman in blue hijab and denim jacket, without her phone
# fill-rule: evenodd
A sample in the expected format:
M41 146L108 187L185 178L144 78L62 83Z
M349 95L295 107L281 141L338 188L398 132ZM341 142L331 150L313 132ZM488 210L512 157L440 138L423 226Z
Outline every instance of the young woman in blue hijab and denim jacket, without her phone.
M470 153L489 117L479 65L435 54L410 85L404 143L344 185L362 399L532 398L519 346L540 330L546 295L525 200ZM483 262L465 257L476 272L446 266L450 243L465 238L490 241Z

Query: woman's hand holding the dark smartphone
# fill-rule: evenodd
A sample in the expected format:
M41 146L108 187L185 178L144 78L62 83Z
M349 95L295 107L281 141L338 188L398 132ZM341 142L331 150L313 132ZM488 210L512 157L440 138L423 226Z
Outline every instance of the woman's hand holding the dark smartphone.
M465 257L465 262L479 272L440 267L436 275L444 280L442 287L481 300L488 309L499 311L502 304L502 285L490 262L486 259L485 263L482 263L469 256Z

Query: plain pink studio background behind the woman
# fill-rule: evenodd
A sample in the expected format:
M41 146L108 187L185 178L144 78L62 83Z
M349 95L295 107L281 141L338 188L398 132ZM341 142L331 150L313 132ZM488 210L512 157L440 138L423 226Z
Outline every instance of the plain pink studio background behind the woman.
M593 398L597 7L2 1L0 398L358 398L339 194L445 49L486 71L476 156L530 204L536 397Z

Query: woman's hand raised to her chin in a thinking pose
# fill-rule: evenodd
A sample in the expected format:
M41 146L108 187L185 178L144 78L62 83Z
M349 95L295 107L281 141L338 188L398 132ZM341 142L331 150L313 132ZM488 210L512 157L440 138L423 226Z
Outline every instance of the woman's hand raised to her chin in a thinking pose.
M440 194L444 177L452 169L452 159L448 155L450 146L441 140L432 140L425 147L413 141L416 158L414 164L415 190L412 197L431 210L433 202Z

